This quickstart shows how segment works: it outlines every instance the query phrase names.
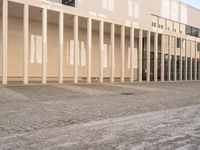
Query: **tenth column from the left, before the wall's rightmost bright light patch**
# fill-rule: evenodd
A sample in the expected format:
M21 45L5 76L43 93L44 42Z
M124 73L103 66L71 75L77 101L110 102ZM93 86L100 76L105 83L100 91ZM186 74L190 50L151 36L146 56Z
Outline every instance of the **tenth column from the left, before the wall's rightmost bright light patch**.
M134 65L133 65L133 54L134 54L134 28L131 27L131 32L130 32L130 46L131 46L131 51L130 51L130 82L134 81Z

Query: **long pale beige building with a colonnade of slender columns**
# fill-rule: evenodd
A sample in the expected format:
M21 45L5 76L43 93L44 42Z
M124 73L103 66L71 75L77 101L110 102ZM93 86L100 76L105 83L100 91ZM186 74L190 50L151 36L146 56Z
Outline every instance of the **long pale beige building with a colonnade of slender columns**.
M200 10L177 0L1 0L0 9L3 84L200 80Z

